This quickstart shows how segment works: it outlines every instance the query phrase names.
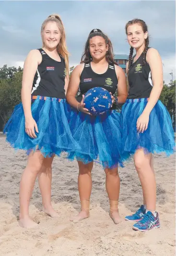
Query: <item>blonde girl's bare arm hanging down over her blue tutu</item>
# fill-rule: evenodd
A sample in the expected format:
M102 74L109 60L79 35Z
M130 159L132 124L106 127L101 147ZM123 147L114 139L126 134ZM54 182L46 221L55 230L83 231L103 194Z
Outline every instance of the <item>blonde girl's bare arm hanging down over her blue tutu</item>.
M24 117L25 117L25 131L26 133L35 138L35 131L37 130L37 125L35 120L32 117L31 112L31 90L32 84L35 76L35 72L37 70L39 62L42 61L42 56L38 50L32 50L26 57L24 62L24 69L23 69L23 80L22 80L22 104L24 110Z

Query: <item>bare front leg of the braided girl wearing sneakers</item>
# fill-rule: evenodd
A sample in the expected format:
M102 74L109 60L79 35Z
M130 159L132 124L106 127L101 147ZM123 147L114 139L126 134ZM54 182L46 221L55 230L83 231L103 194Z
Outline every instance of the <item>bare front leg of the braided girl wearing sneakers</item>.
M141 181L144 204L146 204L147 210L155 211L156 182L153 156L152 154L145 154L143 149L138 149L134 155L134 163Z

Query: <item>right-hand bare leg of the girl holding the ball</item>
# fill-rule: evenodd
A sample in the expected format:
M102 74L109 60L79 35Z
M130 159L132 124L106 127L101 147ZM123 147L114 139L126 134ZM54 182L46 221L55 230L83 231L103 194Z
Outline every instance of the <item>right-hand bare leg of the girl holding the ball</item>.
M110 217L113 219L115 224L118 224L122 221L122 218L118 213L118 199L120 192L120 178L118 175L118 169L105 169L106 173L106 191L109 197L110 203Z

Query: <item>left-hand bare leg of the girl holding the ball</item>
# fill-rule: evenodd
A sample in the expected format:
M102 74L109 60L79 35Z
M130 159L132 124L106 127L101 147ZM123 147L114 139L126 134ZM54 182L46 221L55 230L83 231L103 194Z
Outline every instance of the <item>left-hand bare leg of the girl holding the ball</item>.
M71 221L78 222L79 220L88 218L89 215L89 203L92 190L92 177L91 171L93 168L93 162L83 164L78 161L79 175L78 175L78 190L81 201L81 212L72 218Z

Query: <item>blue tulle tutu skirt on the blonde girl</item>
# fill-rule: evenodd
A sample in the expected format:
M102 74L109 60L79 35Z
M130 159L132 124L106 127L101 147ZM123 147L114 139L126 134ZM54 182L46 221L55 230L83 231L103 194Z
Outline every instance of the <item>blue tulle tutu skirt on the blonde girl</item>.
M25 133L25 118L22 103L14 108L11 118L4 127L6 140L15 149L24 149L29 154L40 150L44 157L78 148L73 139L67 120L70 106L65 99L32 96L31 110L38 133L31 138Z

